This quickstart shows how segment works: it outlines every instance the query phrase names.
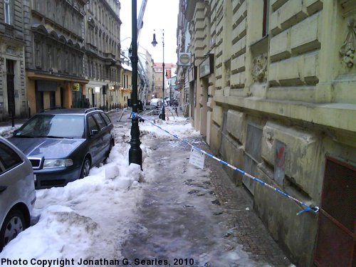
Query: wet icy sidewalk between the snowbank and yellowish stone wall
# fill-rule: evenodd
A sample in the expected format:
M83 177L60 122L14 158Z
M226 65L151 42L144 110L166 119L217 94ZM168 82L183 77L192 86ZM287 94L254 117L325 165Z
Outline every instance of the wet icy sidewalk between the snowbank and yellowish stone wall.
M132 266L290 266L245 189L236 188L218 162L205 158L204 169L194 167L188 145L146 135L146 124L140 123L141 141L152 153L143 169L151 171L137 221L121 245L123 258ZM189 141L207 149L201 137Z

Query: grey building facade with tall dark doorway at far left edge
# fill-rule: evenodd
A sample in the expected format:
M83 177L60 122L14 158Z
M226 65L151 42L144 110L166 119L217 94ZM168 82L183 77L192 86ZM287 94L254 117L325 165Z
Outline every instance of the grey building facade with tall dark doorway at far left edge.
M0 120L26 117L23 1L0 1Z

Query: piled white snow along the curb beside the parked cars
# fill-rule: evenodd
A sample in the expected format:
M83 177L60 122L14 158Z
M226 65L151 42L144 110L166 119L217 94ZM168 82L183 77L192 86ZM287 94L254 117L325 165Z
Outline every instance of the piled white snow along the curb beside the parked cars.
M158 122L179 137L199 135L186 118ZM0 253L9 259L120 258L120 244L125 241L130 224L135 221L137 203L142 199L140 182L155 172L154 166L141 172L140 166L128 166L130 128L116 127L115 147L108 163L90 169L84 179L70 182L66 187L37 190L34 214L39 221L11 241ZM13 130L1 128L1 132ZM162 130L140 123L143 140L167 136ZM126 142L125 142L126 141ZM141 145L142 156L150 147ZM2 264L3 266L6 266ZM30 264L28 266L41 266Z

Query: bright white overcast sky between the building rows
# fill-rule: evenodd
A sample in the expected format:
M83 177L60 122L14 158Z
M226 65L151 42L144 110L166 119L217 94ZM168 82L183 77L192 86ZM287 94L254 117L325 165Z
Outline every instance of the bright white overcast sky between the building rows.
M130 47L131 43L131 5L130 0L120 0L121 10L121 49ZM137 0L137 16L142 0ZM139 44L151 55L155 63L162 62L162 30L164 30L164 63L177 63L177 16L179 0L147 0L143 27ZM152 46L153 32L156 33L157 46ZM130 38L127 38L130 37ZM140 51L140 49L139 49Z

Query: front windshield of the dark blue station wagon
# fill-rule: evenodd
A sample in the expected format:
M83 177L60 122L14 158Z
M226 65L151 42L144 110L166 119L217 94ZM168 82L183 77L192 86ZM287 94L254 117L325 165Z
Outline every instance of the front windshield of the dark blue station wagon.
M83 138L84 116L35 115L15 137Z

